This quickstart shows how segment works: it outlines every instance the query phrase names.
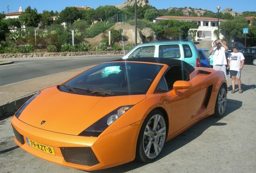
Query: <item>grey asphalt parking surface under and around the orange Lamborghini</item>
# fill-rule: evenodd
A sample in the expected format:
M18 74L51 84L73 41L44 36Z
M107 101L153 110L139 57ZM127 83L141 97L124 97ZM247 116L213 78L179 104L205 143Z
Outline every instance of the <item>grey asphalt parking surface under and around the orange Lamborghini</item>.
M95 173L255 173L256 66L242 70L244 93L229 93L221 119L208 117L165 143L153 163L130 162ZM237 86L236 86L237 88ZM85 173L34 157L13 141L10 118L0 121L1 173ZM127 137L129 140L129 138ZM114 146L113 146L114 147Z

